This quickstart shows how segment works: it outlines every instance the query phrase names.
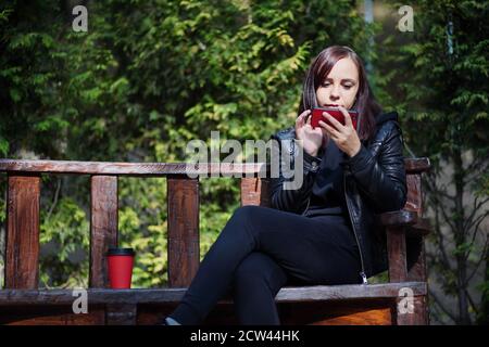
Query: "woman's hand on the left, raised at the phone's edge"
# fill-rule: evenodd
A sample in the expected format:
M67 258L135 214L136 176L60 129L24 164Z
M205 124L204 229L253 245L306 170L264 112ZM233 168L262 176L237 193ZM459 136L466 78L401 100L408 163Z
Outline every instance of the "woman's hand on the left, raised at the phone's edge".
M308 118L308 120L304 120ZM311 126L311 111L305 110L296 119L296 139L302 140L304 151L312 156L316 156L321 145L327 142L327 134L322 127L313 129Z

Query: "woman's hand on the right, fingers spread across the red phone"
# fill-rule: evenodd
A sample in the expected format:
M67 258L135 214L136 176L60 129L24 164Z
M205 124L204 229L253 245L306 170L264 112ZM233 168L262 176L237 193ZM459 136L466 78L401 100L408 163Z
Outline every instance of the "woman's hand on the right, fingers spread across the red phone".
M329 138L335 141L336 145L348 154L349 157L354 156L359 153L362 144L360 142L356 130L353 128L353 124L351 121L350 114L344 107L339 106L338 110L344 116L344 126L336 120L330 114L327 112L323 113L335 127L328 126L323 120L319 120L319 126L323 127L328 133Z

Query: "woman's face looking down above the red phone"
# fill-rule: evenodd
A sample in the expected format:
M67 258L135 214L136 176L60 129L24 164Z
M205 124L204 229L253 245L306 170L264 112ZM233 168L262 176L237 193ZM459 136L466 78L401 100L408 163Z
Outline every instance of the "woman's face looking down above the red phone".
M322 107L343 106L350 110L359 90L359 69L351 57L340 59L316 90L317 104Z

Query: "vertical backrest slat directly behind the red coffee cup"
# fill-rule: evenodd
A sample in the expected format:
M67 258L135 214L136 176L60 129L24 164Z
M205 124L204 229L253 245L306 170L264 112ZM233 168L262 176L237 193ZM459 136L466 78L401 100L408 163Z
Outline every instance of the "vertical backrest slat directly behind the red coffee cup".
M117 177L92 176L90 195L90 287L109 287L106 252L117 245Z

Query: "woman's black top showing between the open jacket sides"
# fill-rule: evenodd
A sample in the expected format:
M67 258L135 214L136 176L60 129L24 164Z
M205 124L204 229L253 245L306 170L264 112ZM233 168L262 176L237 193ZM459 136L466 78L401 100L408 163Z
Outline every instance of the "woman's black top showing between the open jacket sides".
M329 140L321 160L311 192L311 201L304 216L348 216L343 183L343 152Z

